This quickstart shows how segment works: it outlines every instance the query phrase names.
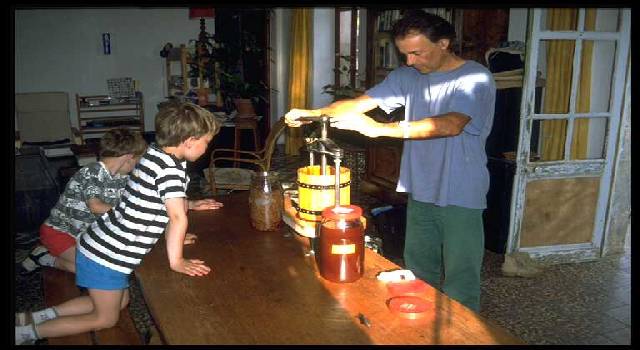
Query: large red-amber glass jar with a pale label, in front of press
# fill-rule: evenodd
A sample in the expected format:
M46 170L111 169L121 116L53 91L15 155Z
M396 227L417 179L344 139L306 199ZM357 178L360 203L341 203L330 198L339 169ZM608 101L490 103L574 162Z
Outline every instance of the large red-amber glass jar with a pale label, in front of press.
M346 283L364 274L364 228L362 208L337 206L322 211L318 247L320 275L332 282Z

